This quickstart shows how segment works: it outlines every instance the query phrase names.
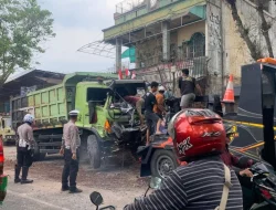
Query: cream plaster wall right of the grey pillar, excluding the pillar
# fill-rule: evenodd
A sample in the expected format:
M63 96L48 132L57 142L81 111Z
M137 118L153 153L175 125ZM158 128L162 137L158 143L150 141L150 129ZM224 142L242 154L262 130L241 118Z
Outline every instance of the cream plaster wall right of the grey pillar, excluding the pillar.
M247 0L237 0L237 9L243 23L250 29L251 39L259 45L265 55L268 55L264 36L259 27L259 17L257 15L254 4ZM241 83L241 65L253 63L250 51L243 39L237 32L235 22L233 21L231 9L226 3L222 4L223 12L223 40L224 40L224 75L234 74L235 85ZM276 55L276 20L266 13L267 21L273 23L270 29L270 40L273 42L274 54ZM226 82L226 81L225 81ZM225 83L224 83L225 85Z

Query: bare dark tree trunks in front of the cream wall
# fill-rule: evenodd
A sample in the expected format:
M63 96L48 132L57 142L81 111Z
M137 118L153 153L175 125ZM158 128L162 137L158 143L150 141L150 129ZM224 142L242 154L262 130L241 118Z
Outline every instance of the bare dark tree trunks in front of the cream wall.
M247 28L243 23L240 14L237 12L236 0L226 0L226 2L230 4L231 11L232 11L232 18L236 22L237 31L240 32L241 38L245 41L246 45L248 46L252 59L254 59L256 61L256 60L263 57L264 52L262 51L262 49L258 48L256 42L251 38L251 35L250 35L251 29ZM272 40L269 38L269 29L272 28L272 24L268 23L267 20L265 19L265 14L264 14L265 2L266 2L266 0L254 0L254 3L256 4L256 11L257 11L258 17L261 19L261 31L262 31L262 34L265 39L268 55L270 57L274 57L273 48L272 48Z

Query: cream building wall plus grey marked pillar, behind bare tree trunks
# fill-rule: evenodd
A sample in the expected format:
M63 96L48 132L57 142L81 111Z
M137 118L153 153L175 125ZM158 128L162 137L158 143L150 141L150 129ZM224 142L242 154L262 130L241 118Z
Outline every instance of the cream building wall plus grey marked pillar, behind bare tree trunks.
M248 0L237 0L238 13L243 23L250 29L251 39L268 55L261 20L255 6ZM276 54L276 20L266 12L268 22L273 23L270 40ZM225 1L210 0L206 6L206 56L209 57L209 93L224 93L230 74L234 84L241 84L241 65L253 63L248 48L241 38L232 18L232 11Z

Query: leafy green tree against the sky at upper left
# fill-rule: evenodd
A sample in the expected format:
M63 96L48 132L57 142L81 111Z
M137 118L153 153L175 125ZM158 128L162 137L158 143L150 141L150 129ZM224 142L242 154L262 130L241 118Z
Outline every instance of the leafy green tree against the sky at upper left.
M55 36L52 13L36 0L0 1L0 87L18 69L28 70L43 42Z

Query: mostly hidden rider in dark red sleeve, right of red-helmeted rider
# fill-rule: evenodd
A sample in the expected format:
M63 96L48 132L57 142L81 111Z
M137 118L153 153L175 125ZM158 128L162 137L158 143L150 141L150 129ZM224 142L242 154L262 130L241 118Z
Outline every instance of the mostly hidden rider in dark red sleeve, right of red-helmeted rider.
M229 167L234 167L233 169L236 172L236 176L240 180L240 183L242 186L243 191L243 207L244 210L251 209L251 207L254 203L254 198L252 196L252 182L251 178L253 177L253 174L248 168L252 167L254 161L252 159L244 159L244 161L241 161L241 159L229 150L229 144L230 139L226 138L226 148L224 153L221 155L222 160L225 165Z

